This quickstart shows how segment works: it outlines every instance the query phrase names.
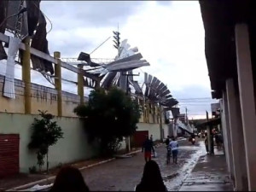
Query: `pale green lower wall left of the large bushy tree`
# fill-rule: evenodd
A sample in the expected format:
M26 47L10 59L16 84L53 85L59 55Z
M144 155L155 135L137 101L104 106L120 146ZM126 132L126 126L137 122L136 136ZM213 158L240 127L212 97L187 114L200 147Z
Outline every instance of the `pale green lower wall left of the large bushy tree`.
M0 113L0 134L20 134L20 172L28 172L29 167L37 166L36 154L27 148L32 134L30 127L35 117L38 115ZM49 167L96 156L98 149L87 142L79 118L61 117L55 120L61 126L64 138L49 148Z

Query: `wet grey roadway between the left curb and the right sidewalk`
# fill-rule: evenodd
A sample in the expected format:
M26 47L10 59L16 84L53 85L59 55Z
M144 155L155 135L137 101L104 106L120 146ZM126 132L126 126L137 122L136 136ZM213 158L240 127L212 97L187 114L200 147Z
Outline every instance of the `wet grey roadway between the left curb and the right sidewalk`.
M177 165L166 165L166 147L161 145L156 148L159 166L166 187L170 191L178 190L184 178L195 166L202 153L205 154L202 142L193 146L186 140L179 141L179 154ZM110 161L100 166L94 166L82 171L85 182L90 190L115 190L132 191L143 176L143 153L137 153L131 158Z

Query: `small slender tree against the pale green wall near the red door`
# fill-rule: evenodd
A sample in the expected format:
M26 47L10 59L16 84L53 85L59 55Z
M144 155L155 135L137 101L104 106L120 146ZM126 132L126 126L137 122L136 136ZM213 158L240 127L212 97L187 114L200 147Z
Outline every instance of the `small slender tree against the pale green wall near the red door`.
M46 155L46 170L49 169L48 152L49 146L57 143L59 138L63 138L61 127L56 124L54 115L47 113L47 111L39 111L41 119L35 118L32 124L32 137L28 148L37 150L38 166L41 170L44 166L44 157Z

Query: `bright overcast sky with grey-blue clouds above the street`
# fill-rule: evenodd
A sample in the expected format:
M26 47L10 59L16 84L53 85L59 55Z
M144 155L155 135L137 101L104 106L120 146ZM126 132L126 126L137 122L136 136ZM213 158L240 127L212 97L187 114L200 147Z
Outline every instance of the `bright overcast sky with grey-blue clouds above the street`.
M189 119L205 118L211 111L210 81L204 53L204 28L197 1L42 1L41 9L49 18L49 51L61 51L61 57L77 58L81 51L90 53L113 31L121 33L137 47L150 67L137 70L143 83L143 72L167 84L180 102L181 113L188 108ZM113 59L117 50L113 38L97 49L91 57ZM63 78L76 79L63 72ZM44 79L32 73L34 81ZM45 83L44 83L45 84ZM64 90L76 87L63 84ZM189 100L190 98L200 98Z

